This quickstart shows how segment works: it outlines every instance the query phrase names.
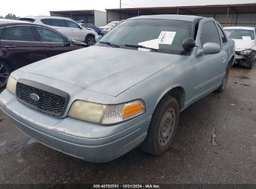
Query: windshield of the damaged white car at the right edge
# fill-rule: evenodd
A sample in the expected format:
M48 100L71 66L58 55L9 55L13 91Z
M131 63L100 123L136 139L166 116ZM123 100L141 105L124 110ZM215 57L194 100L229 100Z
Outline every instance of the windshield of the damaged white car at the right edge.
M254 40L254 30L245 29L224 29L229 39L248 39Z

